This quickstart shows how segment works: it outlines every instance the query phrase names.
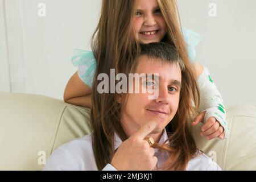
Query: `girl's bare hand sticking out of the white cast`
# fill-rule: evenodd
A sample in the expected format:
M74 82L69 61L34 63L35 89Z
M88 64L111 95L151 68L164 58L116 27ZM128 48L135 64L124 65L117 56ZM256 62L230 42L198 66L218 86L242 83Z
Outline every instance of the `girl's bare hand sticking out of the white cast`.
M197 115L195 120L192 122L192 126L198 125L200 122L204 122L205 112ZM210 117L207 122L201 128L201 137L206 137L208 140L213 138L224 139L225 133L224 128L220 125L214 117Z

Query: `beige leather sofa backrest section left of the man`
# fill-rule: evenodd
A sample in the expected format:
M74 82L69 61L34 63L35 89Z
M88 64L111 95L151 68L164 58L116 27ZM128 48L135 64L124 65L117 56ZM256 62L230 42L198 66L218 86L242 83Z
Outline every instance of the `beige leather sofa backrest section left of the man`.
M89 134L90 110L46 96L0 92L0 170L41 170L61 144Z

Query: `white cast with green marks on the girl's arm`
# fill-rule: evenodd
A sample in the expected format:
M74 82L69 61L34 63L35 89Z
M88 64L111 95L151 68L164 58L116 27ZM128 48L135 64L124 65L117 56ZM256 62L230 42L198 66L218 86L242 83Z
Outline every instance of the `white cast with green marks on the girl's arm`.
M206 111L204 117L204 123L210 117L214 117L220 122L224 128L225 139L229 136L229 128L226 123L226 111L224 108L224 101L222 100L221 94L214 84L212 77L207 68L204 67L203 72L198 78L198 84L200 89L200 106L201 112Z

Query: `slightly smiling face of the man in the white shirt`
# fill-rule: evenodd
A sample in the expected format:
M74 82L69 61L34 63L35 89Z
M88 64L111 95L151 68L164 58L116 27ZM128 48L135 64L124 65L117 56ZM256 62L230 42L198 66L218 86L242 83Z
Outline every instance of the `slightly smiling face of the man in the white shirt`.
M158 123L152 134L162 133L164 127L174 118L179 106L181 70L179 65L164 63L162 60L150 60L147 56L139 57L139 64L135 73L159 75L159 83L156 80L142 79L141 88L155 86L159 97L148 100L148 93L130 93L127 95L127 103L123 107L121 122L125 126L129 136L136 133L145 123L154 120Z

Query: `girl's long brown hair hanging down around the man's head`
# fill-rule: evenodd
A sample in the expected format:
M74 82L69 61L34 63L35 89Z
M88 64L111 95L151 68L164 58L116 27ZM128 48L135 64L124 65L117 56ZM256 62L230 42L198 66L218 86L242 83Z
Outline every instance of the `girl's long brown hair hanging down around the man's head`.
M110 78L110 69L115 69L115 73L129 73L134 71L136 60L138 60L141 48L138 40L134 39L133 18L135 16L135 0L102 0L101 18L93 34L92 51L97 60L96 76L94 77L92 88L92 138L93 152L99 170L110 163L114 155L114 133L122 140L127 139L127 135L120 123L121 105L117 102L118 94L99 94L97 86L100 81L97 76L106 73ZM181 100L179 110L175 115L176 121L184 121L192 110L191 101L194 101L196 108L199 104L199 89L189 64L187 48L181 33L179 16L176 9L175 0L158 0L160 10L166 20L168 32L162 42L167 42L175 46L177 53L185 65L183 73L183 90L181 89ZM110 85L110 81L109 81ZM110 89L110 88L109 88ZM186 92L185 92L185 91ZM109 92L110 93L110 92ZM185 139L185 143L191 142L186 136L187 127L172 125L174 133L172 140L177 141L176 146ZM175 156L170 169L184 169L188 160L192 157L188 150L189 146L175 148L172 150ZM170 148L169 148L170 149ZM187 151L187 152L185 152Z

